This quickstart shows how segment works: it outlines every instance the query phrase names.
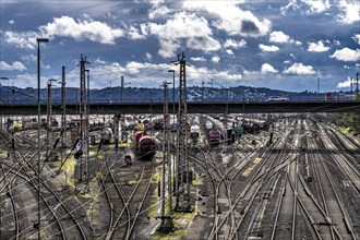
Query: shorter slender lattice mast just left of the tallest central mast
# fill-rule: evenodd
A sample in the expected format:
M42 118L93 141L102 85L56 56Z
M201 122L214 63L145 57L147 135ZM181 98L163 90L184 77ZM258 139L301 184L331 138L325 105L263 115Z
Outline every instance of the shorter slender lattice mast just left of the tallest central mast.
M158 228L160 232L169 232L173 229L172 224L172 192L171 192L171 159L170 159L170 116L168 100L168 83L164 82L164 141L163 141L163 175L161 175L161 194L160 194L160 219L161 224ZM168 172L166 179L166 160L168 161ZM167 183L167 184L166 184ZM167 204L166 204L167 203ZM166 206L168 213L166 215Z

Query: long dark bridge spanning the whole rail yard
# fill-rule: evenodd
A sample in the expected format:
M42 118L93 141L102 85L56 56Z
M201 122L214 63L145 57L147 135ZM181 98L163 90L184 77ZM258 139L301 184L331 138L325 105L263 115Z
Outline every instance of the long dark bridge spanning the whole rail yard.
M92 115L112 113L163 113L164 103L96 103L88 104ZM169 111L178 110L169 103ZM61 115L59 105L52 107L55 113ZM0 115L37 115L38 106L32 104L0 105ZM40 105L41 115L46 115L46 104ZM188 101L188 113L286 113L286 112L360 112L359 100L324 100L324 101ZM67 115L79 115L79 104L67 104Z

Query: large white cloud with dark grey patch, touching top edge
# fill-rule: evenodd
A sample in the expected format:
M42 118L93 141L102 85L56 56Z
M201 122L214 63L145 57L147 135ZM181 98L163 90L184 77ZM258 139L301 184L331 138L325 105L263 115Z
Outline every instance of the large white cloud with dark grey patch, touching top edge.
M271 29L271 21L260 21L252 12L239 9L244 1L192 1L183 2L183 8L193 11L205 11L213 15L213 25L229 35L257 37Z

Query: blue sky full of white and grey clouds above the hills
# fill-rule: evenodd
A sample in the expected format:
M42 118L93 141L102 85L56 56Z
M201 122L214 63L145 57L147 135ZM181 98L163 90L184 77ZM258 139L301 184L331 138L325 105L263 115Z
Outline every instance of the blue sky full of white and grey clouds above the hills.
M358 0L1 0L1 84L41 87L49 79L91 87L159 87L184 52L188 85L285 91L348 89L360 72ZM178 77L178 75L177 75ZM10 83L9 83L10 82Z

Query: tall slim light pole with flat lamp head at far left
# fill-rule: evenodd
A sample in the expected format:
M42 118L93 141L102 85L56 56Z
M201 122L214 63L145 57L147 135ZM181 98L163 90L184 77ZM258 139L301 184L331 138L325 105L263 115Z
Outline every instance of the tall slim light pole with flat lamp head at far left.
M40 43L48 43L48 38L36 38L37 41L37 237L41 237L41 215L40 215Z

